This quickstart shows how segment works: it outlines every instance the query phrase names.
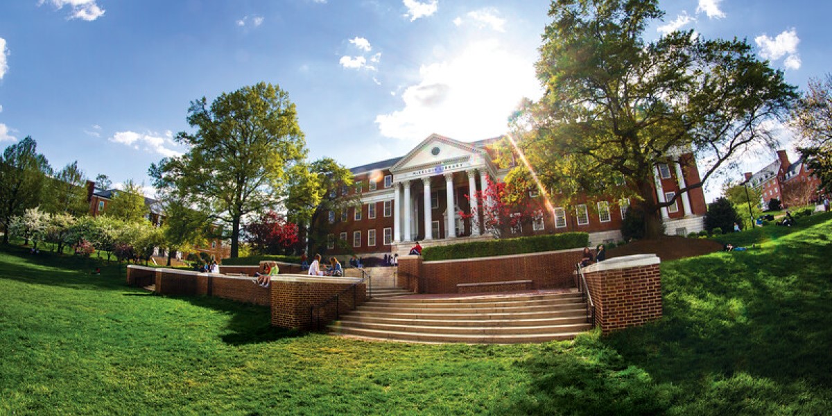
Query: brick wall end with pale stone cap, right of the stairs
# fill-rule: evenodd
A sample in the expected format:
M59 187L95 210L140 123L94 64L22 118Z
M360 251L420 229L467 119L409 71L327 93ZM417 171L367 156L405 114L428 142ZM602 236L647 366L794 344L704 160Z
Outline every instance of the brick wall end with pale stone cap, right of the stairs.
M656 255L628 255L583 268L603 334L661 318L659 263Z

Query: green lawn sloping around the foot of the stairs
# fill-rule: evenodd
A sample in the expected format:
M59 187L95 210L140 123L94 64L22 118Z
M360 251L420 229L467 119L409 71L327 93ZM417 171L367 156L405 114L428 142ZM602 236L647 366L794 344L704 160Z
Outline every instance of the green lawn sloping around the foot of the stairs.
M828 414L832 215L799 225L663 264L655 324L508 346L271 329L266 308L0 247L0 414Z

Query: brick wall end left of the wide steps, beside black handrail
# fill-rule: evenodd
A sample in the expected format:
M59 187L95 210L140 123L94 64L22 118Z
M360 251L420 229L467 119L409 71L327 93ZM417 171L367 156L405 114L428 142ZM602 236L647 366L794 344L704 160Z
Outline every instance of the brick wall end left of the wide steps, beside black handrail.
M271 280L271 324L281 328L314 329L317 322L328 324L335 319L335 302L316 310L312 316L310 307L321 305L334 295L359 282L353 277L314 277L281 275ZM339 296L337 307L341 313L354 309L366 300L364 283Z

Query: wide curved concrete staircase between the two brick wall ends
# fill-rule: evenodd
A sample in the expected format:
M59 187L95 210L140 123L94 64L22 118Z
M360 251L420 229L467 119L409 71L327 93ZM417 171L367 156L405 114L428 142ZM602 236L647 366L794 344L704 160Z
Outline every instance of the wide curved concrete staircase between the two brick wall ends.
M330 334L422 343L515 344L572 339L591 329L581 294L539 292L374 299L328 326Z

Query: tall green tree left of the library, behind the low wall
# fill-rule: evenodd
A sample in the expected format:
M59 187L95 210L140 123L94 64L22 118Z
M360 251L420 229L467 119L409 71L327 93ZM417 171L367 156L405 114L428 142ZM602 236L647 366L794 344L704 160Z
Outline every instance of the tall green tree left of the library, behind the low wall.
M306 148L295 104L280 87L260 82L223 93L208 105L191 102L188 124L176 141L190 150L150 168L157 188L176 190L198 210L230 224L231 257L240 244L245 215L277 209L290 186L288 173Z

